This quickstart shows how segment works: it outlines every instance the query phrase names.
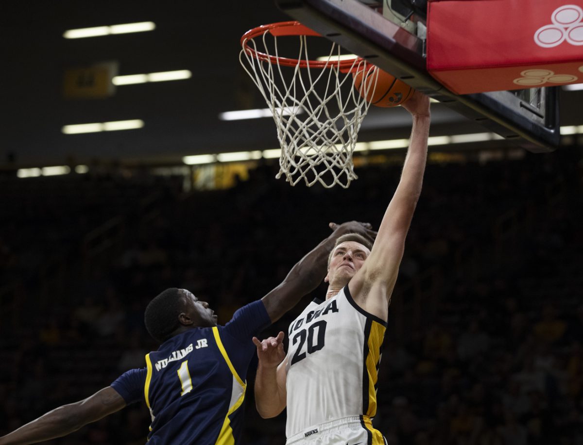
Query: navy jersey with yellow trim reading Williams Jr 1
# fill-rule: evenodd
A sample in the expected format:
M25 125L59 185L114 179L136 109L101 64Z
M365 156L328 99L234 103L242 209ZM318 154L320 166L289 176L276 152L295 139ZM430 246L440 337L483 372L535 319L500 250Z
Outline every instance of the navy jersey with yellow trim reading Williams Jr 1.
M146 368L129 370L111 386L127 404L145 398L149 444L238 444L251 338L269 324L265 306L255 301L225 326L170 338L146 355Z

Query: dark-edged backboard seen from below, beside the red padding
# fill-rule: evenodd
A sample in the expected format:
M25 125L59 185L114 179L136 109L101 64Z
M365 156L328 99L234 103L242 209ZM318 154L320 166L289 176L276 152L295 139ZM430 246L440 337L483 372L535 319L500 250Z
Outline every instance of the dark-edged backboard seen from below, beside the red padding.
M391 1L396 3L394 21L375 8L382 5L374 0L275 0L293 19L505 139L515 140L533 152L557 148L560 139L557 87L451 93L427 72L423 33L419 30L414 33L410 27L398 24L407 13L406 8L400 8L402 3L412 4L408 15L416 13L423 24L423 9L414 10L414 5L424 2L385 0L389 4Z

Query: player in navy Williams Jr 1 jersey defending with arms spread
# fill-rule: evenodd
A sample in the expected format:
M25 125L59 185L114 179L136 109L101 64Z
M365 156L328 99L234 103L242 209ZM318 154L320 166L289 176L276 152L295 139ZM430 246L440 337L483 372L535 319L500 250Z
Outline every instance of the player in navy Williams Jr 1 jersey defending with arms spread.
M85 400L56 408L0 437L0 445L29 444L65 436L87 423L145 400L152 424L149 444L238 444L243 429L245 376L255 353L252 337L278 320L326 274L336 238L370 224L331 223L333 233L300 260L285 280L217 326L208 303L186 289L166 289L146 308L150 335L161 342L146 355L146 368L132 369Z

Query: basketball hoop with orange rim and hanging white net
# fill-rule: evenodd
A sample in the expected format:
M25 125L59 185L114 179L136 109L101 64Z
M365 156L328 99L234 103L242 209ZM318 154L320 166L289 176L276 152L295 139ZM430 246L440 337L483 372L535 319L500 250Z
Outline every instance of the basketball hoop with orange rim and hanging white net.
M284 46L278 48L278 37L283 36L298 37L297 58L279 54ZM276 178L285 175L291 185L304 179L308 187L319 182L325 188L347 188L357 179L352 156L370 106L363 97L376 83L373 79L361 84L366 91L356 90L353 74L368 73L373 65L354 56L342 59L335 43L324 60L312 60L308 36L322 37L299 22L259 26L241 37L239 59L278 128L282 151Z

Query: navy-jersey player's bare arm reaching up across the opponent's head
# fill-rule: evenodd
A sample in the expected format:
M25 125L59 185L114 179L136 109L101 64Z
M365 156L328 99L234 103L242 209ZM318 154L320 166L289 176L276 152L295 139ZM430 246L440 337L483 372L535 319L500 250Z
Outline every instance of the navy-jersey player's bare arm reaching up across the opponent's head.
M324 280L328 254L336 238L350 232L359 233L371 240L376 235L376 232L371 230L370 224L363 222L350 221L340 225L331 222L330 227L333 230L332 234L297 262L285 280L261 299L272 323L279 320L304 295L313 291Z

